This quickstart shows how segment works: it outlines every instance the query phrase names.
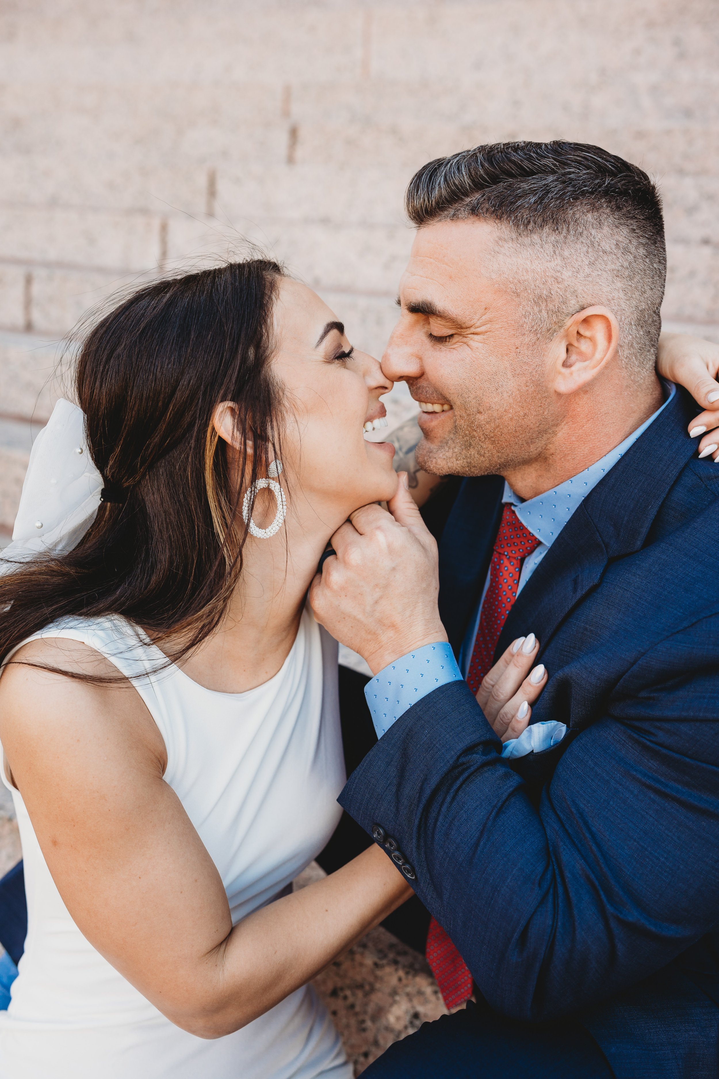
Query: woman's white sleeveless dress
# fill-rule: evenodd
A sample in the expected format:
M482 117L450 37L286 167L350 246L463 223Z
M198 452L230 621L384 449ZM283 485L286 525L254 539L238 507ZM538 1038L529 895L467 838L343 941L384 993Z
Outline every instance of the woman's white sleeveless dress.
M237 694L206 689L174 666L153 673L161 653L123 618L65 619L34 634L58 637L142 675L135 685L165 740L165 781L218 868L233 925L276 898L319 853L341 815L336 643L312 613L303 613L278 673ZM28 934L10 1008L0 1013L1 1079L350 1079L310 986L216 1040L165 1019L82 935L23 798L11 790Z

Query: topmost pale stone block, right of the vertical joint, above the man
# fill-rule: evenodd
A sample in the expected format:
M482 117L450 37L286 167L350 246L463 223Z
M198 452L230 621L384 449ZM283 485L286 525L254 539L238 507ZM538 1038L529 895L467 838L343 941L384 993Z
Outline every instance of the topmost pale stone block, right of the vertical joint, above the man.
M529 62L540 73L558 69L573 85L597 69L611 78L642 65L680 70L694 59L709 69L717 30L710 0L682 5L681 14L670 0L610 0L600 9L592 0L388 4L373 11L369 73L431 82L452 65L453 72L513 80Z

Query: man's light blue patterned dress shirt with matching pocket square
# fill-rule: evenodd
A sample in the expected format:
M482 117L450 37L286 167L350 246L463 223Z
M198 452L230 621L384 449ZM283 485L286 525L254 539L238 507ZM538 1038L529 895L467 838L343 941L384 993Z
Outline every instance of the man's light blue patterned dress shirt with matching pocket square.
M676 393L676 386L672 383L664 383L664 388L666 400L662 407L653 415L650 415L640 427L632 432L623 442L610 450L600 461L579 473L578 476L572 476L551 491L538 494L526 502L523 502L512 491L507 481L504 482L502 502L509 502L514 506L516 516L522 523L540 541L539 547L524 560L517 596L590 491L597 486L600 479L604 479L609 469L621 460L637 438L645 433L649 424L653 423L660 412L669 404ZM381 738L400 715L428 693L431 693L432 689L446 685L447 682L460 682L467 675L490 572L487 573L482 597L462 642L459 665L457 665L450 645L446 642L438 641L435 644L426 644L424 647L417 648L416 652L401 656L400 659L385 667L368 682L364 695L377 737ZM549 749L550 746L561 741L565 733L564 723L549 721L530 724L518 738L504 742L502 756L524 756L533 751L539 752L542 749Z

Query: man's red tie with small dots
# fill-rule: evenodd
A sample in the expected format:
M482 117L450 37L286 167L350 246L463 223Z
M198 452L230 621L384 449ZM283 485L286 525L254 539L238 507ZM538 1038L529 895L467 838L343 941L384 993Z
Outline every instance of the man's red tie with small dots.
M525 528L507 504L492 555L489 586L482 604L480 626L474 640L472 658L467 671L467 684L476 693L482 679L492 667L507 616L516 599L522 562L541 541ZM472 995L472 975L447 933L434 918L427 933L427 962L440 987L447 1008L456 1008Z

